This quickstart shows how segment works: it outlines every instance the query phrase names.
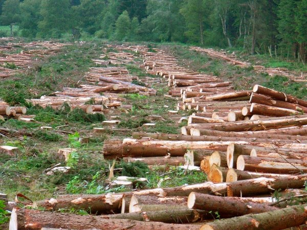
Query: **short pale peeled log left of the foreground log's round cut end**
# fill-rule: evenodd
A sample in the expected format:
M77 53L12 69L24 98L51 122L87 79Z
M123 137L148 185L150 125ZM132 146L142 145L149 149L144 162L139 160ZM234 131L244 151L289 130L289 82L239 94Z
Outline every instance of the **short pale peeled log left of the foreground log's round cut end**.
M157 197L133 195L129 204L129 213L185 209L187 197Z

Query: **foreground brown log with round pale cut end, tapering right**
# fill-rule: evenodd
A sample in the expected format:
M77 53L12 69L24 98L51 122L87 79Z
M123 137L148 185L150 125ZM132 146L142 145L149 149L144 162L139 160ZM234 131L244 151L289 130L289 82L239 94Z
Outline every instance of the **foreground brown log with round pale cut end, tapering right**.
M193 192L188 197L188 208L228 214L231 217L278 210L274 206L251 202L238 197L221 197Z

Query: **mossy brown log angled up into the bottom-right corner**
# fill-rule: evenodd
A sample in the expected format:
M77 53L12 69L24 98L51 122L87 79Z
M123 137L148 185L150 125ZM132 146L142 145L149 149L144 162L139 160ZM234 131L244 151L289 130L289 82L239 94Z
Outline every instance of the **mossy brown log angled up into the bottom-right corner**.
M284 229L304 224L307 218L307 205L295 205L266 213L250 214L204 224L201 230L224 229Z

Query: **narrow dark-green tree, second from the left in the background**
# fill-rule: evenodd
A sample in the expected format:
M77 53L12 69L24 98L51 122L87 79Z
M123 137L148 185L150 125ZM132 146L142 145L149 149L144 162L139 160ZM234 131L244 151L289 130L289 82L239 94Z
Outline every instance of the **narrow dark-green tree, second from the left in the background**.
M20 3L19 29L25 37L35 37L38 31L38 21L41 19L39 13L41 0L25 0Z

